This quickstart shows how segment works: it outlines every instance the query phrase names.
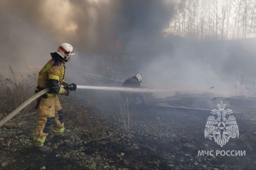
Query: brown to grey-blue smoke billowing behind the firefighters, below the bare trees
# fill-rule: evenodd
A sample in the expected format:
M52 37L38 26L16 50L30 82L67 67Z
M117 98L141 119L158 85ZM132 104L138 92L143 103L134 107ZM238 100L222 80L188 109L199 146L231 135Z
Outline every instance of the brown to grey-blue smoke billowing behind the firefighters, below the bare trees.
M120 81L140 73L143 85L151 88L195 93L215 86L216 92L232 94L236 75L253 78L255 40L223 45L166 35L163 30L176 4L175 0L1 0L0 71L6 71L6 65L21 73L40 69L50 52L68 42L76 55L67 68L103 75L104 62L113 62Z

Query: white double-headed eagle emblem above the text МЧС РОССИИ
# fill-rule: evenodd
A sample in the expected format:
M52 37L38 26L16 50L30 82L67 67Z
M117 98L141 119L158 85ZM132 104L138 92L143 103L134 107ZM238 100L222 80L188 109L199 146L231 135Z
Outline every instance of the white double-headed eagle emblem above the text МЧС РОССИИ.
M239 137L239 130L236 123L236 118L230 116L232 112L231 109L225 110L226 104L221 101L218 105L218 110L214 109L211 111L213 116L209 116L204 129L204 137L214 141L223 147L228 140L231 138ZM215 119L214 115L218 118ZM228 118L226 115L228 114Z

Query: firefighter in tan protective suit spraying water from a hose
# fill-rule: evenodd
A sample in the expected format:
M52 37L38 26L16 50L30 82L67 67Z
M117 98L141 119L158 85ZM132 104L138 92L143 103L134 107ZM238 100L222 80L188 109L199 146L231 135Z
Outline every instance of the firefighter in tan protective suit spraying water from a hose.
M64 113L58 99L58 94L68 96L70 91L76 90L76 84L64 82L65 62L70 61L74 55L72 45L62 43L58 46L56 52L51 53L50 59L44 68L38 74L38 86L35 93L50 88L47 94L44 94L37 100L36 109L38 109L38 125L34 133L34 148L38 151L48 152L48 147L44 146L47 134L52 129L53 139L69 139L69 135L64 133Z

